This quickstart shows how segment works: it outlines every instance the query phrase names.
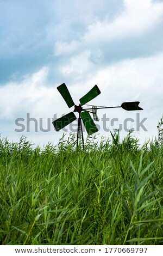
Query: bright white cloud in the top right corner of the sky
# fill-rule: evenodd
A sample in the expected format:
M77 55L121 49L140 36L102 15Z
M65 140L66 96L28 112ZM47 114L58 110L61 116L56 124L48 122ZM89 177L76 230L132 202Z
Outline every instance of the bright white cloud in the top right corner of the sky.
M163 3L150 0L125 0L125 9L112 22L98 21L87 28L83 41L86 44L140 35L162 20Z

